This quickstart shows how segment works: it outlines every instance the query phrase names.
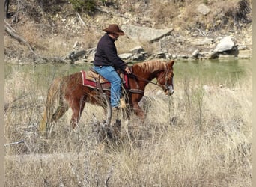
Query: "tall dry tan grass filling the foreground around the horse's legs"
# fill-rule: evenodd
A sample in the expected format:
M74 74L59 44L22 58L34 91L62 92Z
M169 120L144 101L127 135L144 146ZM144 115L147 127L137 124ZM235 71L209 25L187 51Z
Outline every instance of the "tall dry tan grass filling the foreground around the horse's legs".
M147 118L121 119L118 140L98 142L103 109L86 105L76 129L71 112L51 138L37 125L46 91L33 75L5 81L5 186L251 186L252 78L231 87L176 80L167 97L147 89ZM158 93L157 93L158 92ZM157 94L158 95L157 95Z

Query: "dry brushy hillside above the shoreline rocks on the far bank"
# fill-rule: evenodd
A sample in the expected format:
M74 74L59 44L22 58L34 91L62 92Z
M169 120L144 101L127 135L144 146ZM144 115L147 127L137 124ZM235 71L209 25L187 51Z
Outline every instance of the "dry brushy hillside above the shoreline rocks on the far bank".
M66 57L73 50L92 48L111 23L133 24L150 28L174 28L174 36L219 37L237 35L237 40L252 35L252 0L228 1L99 1L91 0L11 1L8 24L39 55ZM204 4L209 12L198 10ZM205 7L203 8L203 10ZM36 61L37 56L24 43L5 34L6 61ZM76 47L74 47L76 43ZM139 43L149 52L157 45ZM118 41L118 52L128 52L138 45L126 37ZM175 43L174 43L175 45ZM189 49L183 44L177 51ZM187 45L187 46L186 46Z

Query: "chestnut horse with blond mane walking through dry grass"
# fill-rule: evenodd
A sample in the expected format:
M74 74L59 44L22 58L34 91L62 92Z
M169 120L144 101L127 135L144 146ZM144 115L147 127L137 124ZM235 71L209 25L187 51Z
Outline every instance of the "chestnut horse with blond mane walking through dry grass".
M148 83L158 85L166 95L171 96L174 93L174 60L170 61L146 61L133 64L130 68L132 73L127 74L126 88L127 96L125 102L129 109L141 119L145 118L144 111L138 105L144 96L144 89ZM40 122L40 132L49 130L49 125L55 120L60 119L64 113L72 108L72 117L70 125L75 128L79 123L85 103L103 106L102 94L99 88L83 85L83 74L76 72L68 76L55 78L49 88L46 98L46 108L43 113L43 119ZM152 82L156 79L156 83ZM101 89L102 90L102 89ZM110 96L110 90L103 91ZM55 110L53 104L58 100L58 108ZM55 110L55 111L54 111ZM130 111L127 111L130 114ZM128 116L129 117L129 116Z

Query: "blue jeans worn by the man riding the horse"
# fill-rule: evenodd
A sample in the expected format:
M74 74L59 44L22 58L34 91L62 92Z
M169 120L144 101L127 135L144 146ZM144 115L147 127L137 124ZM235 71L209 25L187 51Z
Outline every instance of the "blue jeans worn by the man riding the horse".
M107 79L110 84L110 103L112 107L119 105L120 97L121 97L121 78L118 73L115 71L114 67L93 67L97 73Z

